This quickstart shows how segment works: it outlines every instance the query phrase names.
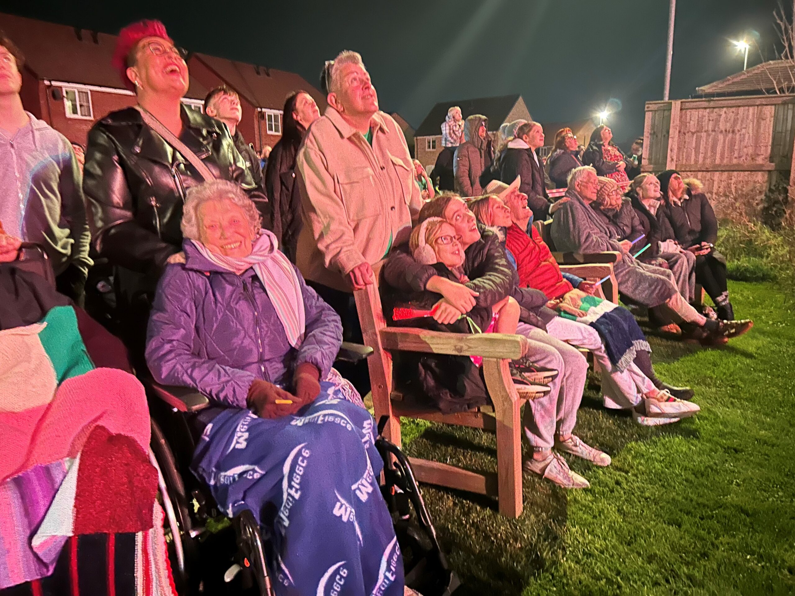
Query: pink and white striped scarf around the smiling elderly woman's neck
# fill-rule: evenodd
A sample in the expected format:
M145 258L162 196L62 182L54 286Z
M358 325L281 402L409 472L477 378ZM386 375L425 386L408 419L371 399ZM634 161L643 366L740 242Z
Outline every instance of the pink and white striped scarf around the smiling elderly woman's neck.
M301 345L306 328L301 283L298 281L293 264L278 250L278 241L273 232L260 230L259 236L254 239L251 254L242 258L211 253L201 242L196 240L192 242L207 261L232 273L240 275L249 267L254 267L254 273L257 273L259 281L265 286L281 325L285 328L290 345L293 347Z

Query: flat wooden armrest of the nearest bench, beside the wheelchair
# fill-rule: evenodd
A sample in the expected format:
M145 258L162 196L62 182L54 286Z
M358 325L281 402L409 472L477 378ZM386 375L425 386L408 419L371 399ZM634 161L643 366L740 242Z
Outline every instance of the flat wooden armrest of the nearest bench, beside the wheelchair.
M466 335L428 331L417 327L386 327L380 331L385 350L482 356L483 358L522 358L526 339L522 335L483 333Z

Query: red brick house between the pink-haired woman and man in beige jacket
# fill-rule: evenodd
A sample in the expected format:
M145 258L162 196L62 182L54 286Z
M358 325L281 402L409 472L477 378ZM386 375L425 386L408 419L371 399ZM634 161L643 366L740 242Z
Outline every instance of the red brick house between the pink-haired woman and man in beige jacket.
M324 95L293 72L200 53L188 58L188 69L208 89L225 83L237 91L243 112L239 130L257 151L263 145L273 147L281 137L281 110L292 91L303 89L312 95L320 114L326 109Z

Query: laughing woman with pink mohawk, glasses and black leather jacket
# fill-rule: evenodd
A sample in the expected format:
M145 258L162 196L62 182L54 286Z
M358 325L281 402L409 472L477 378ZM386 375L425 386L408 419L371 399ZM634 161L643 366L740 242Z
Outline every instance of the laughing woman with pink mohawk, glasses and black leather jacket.
M266 198L223 124L182 103L188 65L165 25L127 25L112 64L136 105L100 118L88 134L83 192L93 246L108 265L95 268L87 288L93 314L142 359L155 285L182 245L188 189L223 179L239 184L258 207ZM115 296L92 292L99 275L114 276Z

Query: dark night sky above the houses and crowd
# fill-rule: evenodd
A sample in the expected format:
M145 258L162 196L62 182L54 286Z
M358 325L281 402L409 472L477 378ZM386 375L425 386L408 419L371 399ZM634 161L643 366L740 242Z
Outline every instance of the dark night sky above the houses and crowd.
M789 2L787 2L789 4ZM731 39L772 57L777 0L679 0L671 98L743 68ZM667 0L215 0L21 2L0 10L105 33L159 18L185 48L299 72L354 49L382 110L418 126L448 99L521 93L541 122L586 118L608 101L617 141L643 133L662 99ZM14 37L14 32L7 32ZM749 66L760 62L752 45ZM624 143L622 142L622 145Z

